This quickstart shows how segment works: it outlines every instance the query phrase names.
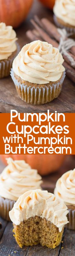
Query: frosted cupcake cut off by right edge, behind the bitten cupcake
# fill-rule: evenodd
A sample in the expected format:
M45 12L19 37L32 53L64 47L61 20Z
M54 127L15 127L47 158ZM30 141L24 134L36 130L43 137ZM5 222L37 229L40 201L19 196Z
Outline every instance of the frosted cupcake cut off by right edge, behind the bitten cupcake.
M68 229L75 230L75 169L65 172L56 183L54 194L68 207Z

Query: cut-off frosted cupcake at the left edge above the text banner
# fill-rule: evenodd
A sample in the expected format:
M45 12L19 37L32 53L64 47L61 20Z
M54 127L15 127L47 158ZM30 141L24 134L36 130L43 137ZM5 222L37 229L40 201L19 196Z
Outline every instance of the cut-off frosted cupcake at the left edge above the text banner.
M16 32L12 26L6 26L0 23L0 78L10 75L13 59L18 54L20 47L18 45Z

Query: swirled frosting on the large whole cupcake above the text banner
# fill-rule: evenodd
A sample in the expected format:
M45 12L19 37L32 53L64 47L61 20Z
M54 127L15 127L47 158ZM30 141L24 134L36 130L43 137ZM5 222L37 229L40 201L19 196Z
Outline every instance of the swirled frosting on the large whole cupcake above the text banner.
M26 44L13 61L13 71L25 81L46 84L57 81L65 68L59 49L40 40Z

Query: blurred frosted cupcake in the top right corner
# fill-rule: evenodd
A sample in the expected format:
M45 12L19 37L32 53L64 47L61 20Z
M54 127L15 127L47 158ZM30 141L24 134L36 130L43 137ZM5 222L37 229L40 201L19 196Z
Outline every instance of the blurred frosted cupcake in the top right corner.
M57 26L75 34L75 0L56 0L53 12Z

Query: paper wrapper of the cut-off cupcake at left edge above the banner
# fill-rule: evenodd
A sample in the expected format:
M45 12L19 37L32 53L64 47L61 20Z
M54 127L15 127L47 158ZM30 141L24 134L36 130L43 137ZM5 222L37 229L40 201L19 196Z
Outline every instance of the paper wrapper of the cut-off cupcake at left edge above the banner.
M9 59L1 60L1 62L0 62L0 78L7 77L7 76L10 75L10 70L12 68L13 60L14 60L14 58L17 56L17 54L20 51L19 44L17 42L16 42L16 44L17 44L16 54L13 53L14 56L12 58L10 56Z

